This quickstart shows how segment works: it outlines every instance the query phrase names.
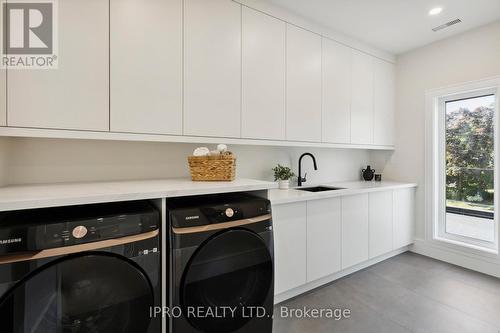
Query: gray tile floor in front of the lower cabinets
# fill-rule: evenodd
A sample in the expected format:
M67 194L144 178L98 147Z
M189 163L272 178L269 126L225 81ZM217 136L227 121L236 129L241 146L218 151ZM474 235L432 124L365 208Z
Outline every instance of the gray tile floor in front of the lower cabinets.
M296 319L288 309L350 309L349 319ZM274 333L499 333L500 279L404 253L279 304Z

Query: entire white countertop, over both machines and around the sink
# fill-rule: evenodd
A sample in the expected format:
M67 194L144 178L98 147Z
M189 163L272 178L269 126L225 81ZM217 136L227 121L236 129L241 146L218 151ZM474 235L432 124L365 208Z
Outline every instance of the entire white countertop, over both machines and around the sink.
M346 189L316 193L296 189L278 190L276 189L278 184L275 182L252 179L236 179L232 182L192 182L189 179L160 179L22 185L0 188L0 211L259 190L269 190L271 203L280 205L417 186L414 183L392 181L382 183L335 182L322 183L321 185L345 187ZM310 186L314 185L308 184L304 187Z

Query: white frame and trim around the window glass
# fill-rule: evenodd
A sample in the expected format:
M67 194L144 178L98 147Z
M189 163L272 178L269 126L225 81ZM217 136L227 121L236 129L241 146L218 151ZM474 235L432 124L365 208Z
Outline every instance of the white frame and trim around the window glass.
M478 97L494 94L496 96L494 115L495 166L494 186L498 191L498 131L499 125L499 93L500 77L472 82L427 93L426 114L426 239L439 245L449 246L459 250L473 251L477 254L498 254L499 228L498 207L499 193L494 196L495 235L493 242L481 241L465 236L445 232L446 223L446 160L445 160L445 103L462 98Z

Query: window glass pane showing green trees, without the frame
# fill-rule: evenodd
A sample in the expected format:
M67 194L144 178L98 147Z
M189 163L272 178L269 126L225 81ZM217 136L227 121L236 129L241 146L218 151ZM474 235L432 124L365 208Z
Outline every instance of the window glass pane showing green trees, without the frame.
M447 235L493 243L495 95L444 100Z

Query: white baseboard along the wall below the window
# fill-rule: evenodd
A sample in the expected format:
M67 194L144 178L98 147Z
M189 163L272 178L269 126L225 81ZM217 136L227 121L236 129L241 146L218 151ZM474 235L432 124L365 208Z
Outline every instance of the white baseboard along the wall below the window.
M456 251L447 246L440 246L423 239L415 240L410 251L500 278L500 261L498 258L481 257L466 251Z

